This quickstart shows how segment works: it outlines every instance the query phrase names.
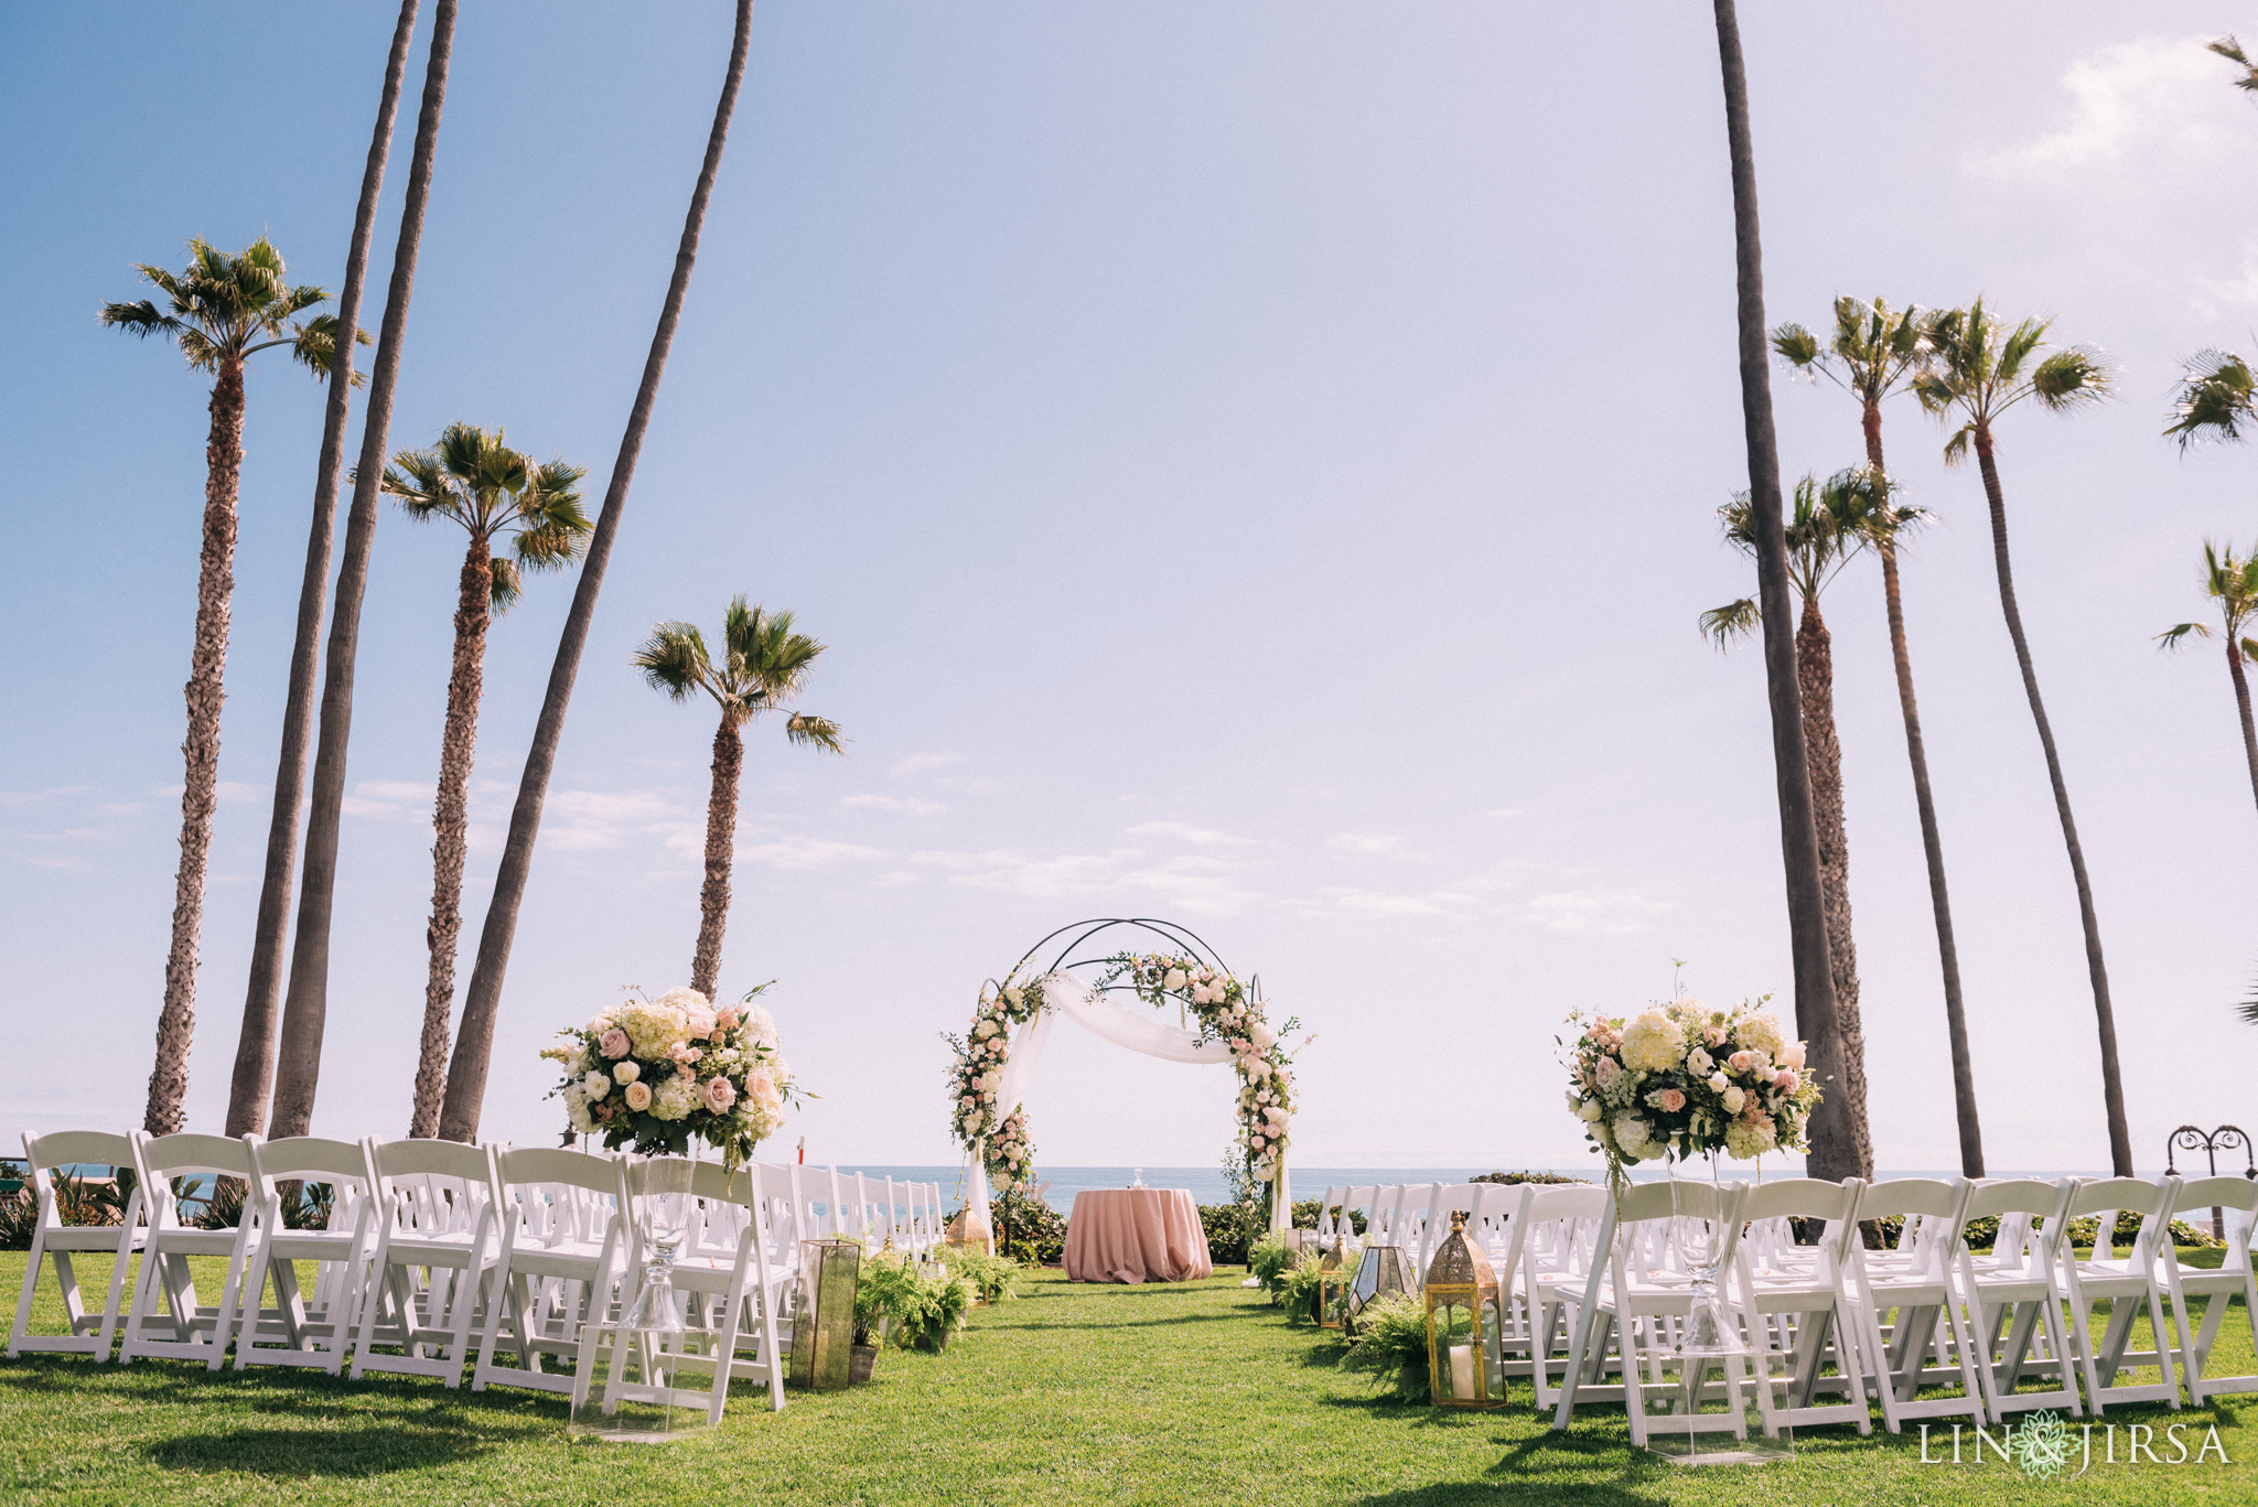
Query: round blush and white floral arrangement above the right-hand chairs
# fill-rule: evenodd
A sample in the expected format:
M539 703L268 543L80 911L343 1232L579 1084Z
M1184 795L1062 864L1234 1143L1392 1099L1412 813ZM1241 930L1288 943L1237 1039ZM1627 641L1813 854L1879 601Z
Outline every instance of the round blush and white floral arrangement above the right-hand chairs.
M1572 1048L1567 1105L1608 1157L1612 1186L1624 1186L1633 1161L1806 1150L1820 1084L1804 1066L1804 1044L1761 1008L1768 999L1730 1010L1673 999L1630 1023L1569 1017L1583 1035Z

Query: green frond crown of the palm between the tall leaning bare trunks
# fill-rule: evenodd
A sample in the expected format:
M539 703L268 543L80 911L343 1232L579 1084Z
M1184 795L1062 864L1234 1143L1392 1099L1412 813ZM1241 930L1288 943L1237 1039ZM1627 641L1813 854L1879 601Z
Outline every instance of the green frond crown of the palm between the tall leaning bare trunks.
M461 524L476 540L510 535L510 554L495 556L492 608L517 601L519 572L562 569L587 551L589 522L580 511L580 477L564 461L535 465L504 443L501 429L447 425L431 450L402 450L384 468L384 490L415 520Z

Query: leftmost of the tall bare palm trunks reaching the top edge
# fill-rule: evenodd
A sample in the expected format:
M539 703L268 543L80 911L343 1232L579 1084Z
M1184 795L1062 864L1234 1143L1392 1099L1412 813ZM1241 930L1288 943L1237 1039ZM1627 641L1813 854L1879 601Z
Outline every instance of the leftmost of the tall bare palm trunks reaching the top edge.
M330 409L321 425L321 468L314 472L314 526L305 542L305 581L298 585L298 635L289 653L289 700L282 705L282 757L275 761L275 804L266 822L266 874L260 881L260 920L251 938L251 987L244 992L244 1030L235 1039L235 1080L228 1087L228 1134L266 1127L266 1096L275 1075L275 1023L282 1019L282 931L289 926L289 883L298 865L298 802L305 800L305 748L314 734L314 673L321 669L321 610L330 596L330 542L336 524L336 477L345 468L345 416L352 409L352 337L361 328L361 285L368 242L377 230L377 194L400 117L400 81L409 70L418 0L400 0L377 131L361 167L361 203L352 212L345 287L336 298L336 357L330 364Z

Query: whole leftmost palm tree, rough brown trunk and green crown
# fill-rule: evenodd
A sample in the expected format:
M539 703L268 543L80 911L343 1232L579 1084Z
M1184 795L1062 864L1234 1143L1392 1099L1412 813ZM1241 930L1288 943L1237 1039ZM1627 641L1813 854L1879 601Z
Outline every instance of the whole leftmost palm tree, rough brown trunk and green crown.
M172 1134L185 1123L187 1044L196 1033L196 944L203 935L203 870L212 852L219 789L219 707L228 667L228 601L235 594L235 499L244 474L244 361L287 346L314 375L336 357L336 319L298 316L330 294L291 285L282 253L262 235L228 255L192 239L187 271L142 264L165 307L104 303L102 323L181 348L192 371L212 373L212 427L203 445L203 560L196 572L196 646L187 671L187 777L181 786L181 870L174 879L165 1008L156 1019L156 1066L142 1127Z

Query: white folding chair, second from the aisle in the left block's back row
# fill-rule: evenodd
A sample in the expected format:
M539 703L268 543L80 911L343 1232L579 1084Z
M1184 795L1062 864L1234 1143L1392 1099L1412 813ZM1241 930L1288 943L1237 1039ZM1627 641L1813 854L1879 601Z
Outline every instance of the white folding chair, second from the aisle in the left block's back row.
M542 1369L542 1356L576 1356L583 1324L610 1317L621 1277L619 1195L621 1168L610 1155L495 1150L501 1254L488 1286L472 1392L495 1383L574 1390L571 1376ZM508 1349L517 1365L495 1365L497 1349Z

